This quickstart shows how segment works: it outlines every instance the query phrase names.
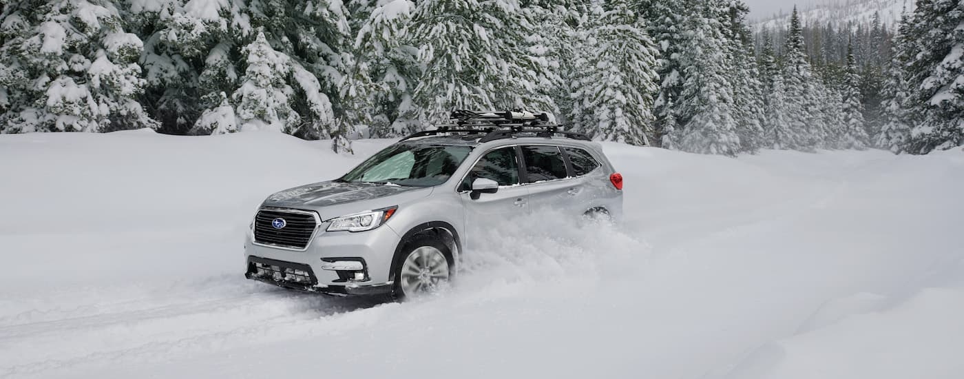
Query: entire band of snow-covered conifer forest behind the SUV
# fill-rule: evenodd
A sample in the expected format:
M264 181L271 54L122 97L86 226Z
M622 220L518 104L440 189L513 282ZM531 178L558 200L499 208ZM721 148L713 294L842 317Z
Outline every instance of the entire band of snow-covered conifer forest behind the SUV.
M0 132L395 137L452 109L736 155L964 144L964 1L754 31L731 0L0 2Z

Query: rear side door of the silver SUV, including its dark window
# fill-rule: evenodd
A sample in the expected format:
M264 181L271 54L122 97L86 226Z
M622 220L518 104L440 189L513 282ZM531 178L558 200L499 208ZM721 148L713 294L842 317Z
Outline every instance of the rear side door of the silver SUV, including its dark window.
M571 217L576 212L573 195L578 185L569 174L562 150L551 145L522 145L522 181L529 189L531 212Z

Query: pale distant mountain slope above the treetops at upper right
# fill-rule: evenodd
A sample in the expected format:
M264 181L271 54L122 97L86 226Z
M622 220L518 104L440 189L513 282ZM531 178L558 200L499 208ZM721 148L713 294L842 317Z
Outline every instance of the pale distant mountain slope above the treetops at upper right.
M880 14L881 23L894 25L900 19L900 13L905 5L907 12L914 10L914 0L833 0L802 8L800 18L808 25L821 25L827 22L845 24L850 21L870 21L874 14ZM788 24L790 24L790 13L774 14L758 20L754 26L761 29Z

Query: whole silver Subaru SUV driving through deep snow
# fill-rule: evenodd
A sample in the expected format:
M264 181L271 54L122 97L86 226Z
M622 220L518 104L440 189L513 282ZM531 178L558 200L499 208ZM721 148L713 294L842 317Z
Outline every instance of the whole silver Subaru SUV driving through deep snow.
M561 212L618 222L623 178L598 143L530 113L453 112L332 181L261 204L248 279L335 295L414 296L485 243L469 230Z

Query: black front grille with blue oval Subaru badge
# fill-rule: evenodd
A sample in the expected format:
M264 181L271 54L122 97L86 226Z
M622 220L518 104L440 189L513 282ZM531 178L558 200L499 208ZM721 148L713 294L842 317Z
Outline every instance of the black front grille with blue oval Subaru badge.
M284 228L276 229L272 225L276 219L284 220ZM316 227L314 216L309 213L261 209L254 216L254 242L303 250L308 247Z

